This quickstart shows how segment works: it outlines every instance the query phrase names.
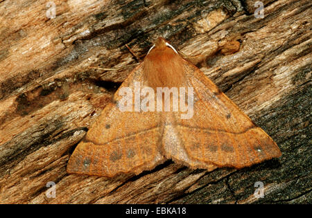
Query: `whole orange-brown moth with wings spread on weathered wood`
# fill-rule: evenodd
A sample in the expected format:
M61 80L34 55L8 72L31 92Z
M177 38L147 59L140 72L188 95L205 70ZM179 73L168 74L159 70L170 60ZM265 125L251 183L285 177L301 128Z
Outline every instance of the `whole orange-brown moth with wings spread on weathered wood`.
M138 85L149 88L140 90ZM172 92L167 97L159 92L147 98L151 90L158 91L157 87ZM179 109L173 104L174 91L179 89L180 93L193 95L190 101L178 96L187 102L184 110L181 102ZM124 99L127 92L134 98ZM140 102L139 98L144 99ZM168 100L172 103L166 108ZM130 110L121 110L121 105L129 102ZM190 105L191 116L183 118L185 107ZM67 172L139 174L169 158L191 168L242 168L279 156L279 147L263 129L254 125L204 73L159 38L78 144Z

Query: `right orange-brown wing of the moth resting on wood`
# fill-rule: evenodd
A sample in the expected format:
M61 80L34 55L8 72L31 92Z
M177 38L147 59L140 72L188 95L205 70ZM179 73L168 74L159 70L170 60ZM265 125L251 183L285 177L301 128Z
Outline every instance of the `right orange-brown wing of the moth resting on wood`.
M191 167L211 170L217 166L241 168L281 156L279 147L263 129L196 66L185 63L186 84L193 87L193 115L182 119L182 113L187 112L172 113L164 131L168 158L184 164L189 158ZM170 143L174 140L177 149Z

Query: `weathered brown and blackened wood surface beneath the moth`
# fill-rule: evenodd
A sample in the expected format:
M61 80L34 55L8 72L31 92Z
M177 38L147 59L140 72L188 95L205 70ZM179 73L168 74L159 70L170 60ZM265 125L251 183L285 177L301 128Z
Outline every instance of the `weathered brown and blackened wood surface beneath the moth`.
M312 3L0 1L0 203L311 203ZM51 9L51 8L50 8ZM243 170L171 161L138 176L67 174L71 152L135 64L166 37L279 145ZM237 53L220 49L237 41ZM56 197L46 197L46 183ZM254 183L264 198L254 197Z

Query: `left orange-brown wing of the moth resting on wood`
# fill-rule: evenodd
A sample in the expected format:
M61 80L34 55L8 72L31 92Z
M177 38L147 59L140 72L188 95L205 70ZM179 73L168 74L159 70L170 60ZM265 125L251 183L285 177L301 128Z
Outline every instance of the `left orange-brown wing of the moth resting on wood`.
M159 152L162 136L159 113L121 111L119 90L142 80L142 64L137 66L114 95L96 122L77 145L67 164L67 172L114 176L121 172L151 170L165 158Z

